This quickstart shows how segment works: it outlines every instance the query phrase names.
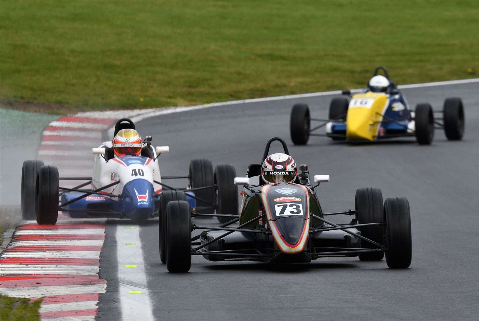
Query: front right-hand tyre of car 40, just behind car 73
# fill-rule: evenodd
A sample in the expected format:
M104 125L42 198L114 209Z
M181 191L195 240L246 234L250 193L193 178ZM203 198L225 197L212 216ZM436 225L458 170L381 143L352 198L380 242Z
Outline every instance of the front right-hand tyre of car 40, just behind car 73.
M235 185L236 170L232 165L215 167L215 184L217 185L217 214L238 215L238 188ZM218 216L220 223L233 218Z

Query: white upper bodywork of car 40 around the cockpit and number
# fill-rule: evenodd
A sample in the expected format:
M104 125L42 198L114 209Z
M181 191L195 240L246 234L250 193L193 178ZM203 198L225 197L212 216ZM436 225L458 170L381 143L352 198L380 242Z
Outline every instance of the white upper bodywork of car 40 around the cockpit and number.
M120 181L119 184L102 190L103 192L109 194L118 195L122 193L123 187L126 183L136 178L143 178L153 184L155 194L158 194L162 191L161 185L154 182L154 180L161 182L158 158L156 160L148 158L148 160L144 162L144 164L140 163L130 165L125 164L125 162L123 162L120 158L117 157L106 161L103 157L103 154L99 154L99 152L103 149L102 147L104 146L111 148L112 143L104 142L99 146L99 148L92 149L92 152L95 155L93 173L91 175L91 187L93 189L102 188L103 186L109 185L116 181ZM167 150L163 148L162 151L166 152ZM154 158L157 157L155 149L153 149L153 155Z

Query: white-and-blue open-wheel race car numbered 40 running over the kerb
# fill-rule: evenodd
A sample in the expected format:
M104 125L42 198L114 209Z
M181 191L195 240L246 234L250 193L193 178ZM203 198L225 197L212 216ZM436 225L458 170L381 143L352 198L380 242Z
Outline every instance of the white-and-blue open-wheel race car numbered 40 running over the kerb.
M153 148L151 143L151 136L141 140L131 120L120 119L115 125L113 142L92 148L95 158L91 177L59 177L55 166L44 166L40 160L24 161L22 218L36 220L39 224L55 224L58 211L62 211L72 218L146 220L160 214L164 189L186 191L185 200L195 214L205 212L207 215L222 203L226 204L229 189L235 189L236 198L233 182L229 186L223 180L215 184L217 172L224 170L226 165L219 165L214 171L211 161L205 158L193 159L186 176L162 177L158 157L168 152L169 147ZM228 173L232 177L236 175ZM162 182L178 178L187 178L189 185L173 188ZM66 180L84 182L74 188L60 186L59 182ZM218 187L224 190L218 192ZM235 203L228 206L234 207Z

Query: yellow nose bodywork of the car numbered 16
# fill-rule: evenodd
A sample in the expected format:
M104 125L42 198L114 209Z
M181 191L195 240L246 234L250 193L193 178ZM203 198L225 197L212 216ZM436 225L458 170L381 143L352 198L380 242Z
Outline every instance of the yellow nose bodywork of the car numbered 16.
M355 94L346 115L346 139L376 140L379 122L388 104L388 95L383 93Z

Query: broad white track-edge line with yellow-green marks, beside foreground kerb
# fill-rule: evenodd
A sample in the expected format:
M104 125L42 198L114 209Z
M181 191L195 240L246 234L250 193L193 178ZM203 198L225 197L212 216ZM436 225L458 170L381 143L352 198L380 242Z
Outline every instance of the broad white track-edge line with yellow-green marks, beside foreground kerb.
M124 229L121 225L117 225L116 240L118 297L122 320L154 320L141 250L140 227ZM125 243L136 245L124 245ZM125 265L137 265L137 267L125 267ZM142 293L128 294L129 291L141 291Z

